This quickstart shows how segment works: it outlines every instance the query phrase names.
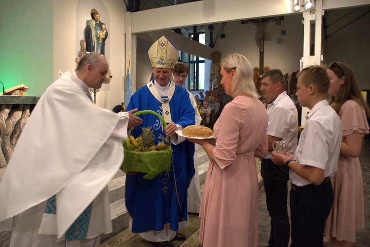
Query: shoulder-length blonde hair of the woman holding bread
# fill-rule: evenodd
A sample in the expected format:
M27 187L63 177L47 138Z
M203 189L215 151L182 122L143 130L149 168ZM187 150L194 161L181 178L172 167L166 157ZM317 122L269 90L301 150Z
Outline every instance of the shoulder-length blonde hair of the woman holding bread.
M233 53L224 58L221 66L227 73L232 69L235 75L231 82L231 95L237 97L242 94L248 94L253 98L259 98L255 83L253 82L253 69L248 59L238 53Z

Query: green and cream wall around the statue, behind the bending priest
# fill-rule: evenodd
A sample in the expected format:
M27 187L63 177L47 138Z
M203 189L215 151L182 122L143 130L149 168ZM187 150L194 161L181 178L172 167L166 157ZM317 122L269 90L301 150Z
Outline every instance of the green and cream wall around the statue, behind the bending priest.
M96 8L107 23L106 57L111 84L97 93L97 105L111 109L123 100L125 70L122 0L14 0L1 2L0 81L5 88L25 84L40 96L58 78L73 72L86 20Z

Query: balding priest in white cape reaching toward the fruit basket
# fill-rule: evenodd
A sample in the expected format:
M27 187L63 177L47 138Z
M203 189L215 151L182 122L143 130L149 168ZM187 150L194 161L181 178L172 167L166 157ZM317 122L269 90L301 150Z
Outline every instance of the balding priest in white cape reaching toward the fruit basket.
M112 231L108 182L127 129L143 121L137 109L94 105L89 87L99 89L107 73L107 60L88 53L37 102L0 183L0 231L12 230L11 247L99 247Z

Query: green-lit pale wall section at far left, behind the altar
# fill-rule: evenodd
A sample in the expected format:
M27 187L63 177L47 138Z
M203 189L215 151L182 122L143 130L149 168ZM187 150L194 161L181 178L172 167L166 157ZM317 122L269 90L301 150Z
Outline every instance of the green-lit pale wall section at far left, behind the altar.
M0 81L41 95L53 81L53 2L1 1L0 11Z

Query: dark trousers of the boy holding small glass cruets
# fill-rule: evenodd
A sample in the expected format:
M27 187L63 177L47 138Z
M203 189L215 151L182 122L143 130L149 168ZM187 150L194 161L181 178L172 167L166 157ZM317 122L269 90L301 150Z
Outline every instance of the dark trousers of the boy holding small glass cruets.
M291 247L322 247L324 223L333 205L330 181L296 192L290 191Z

